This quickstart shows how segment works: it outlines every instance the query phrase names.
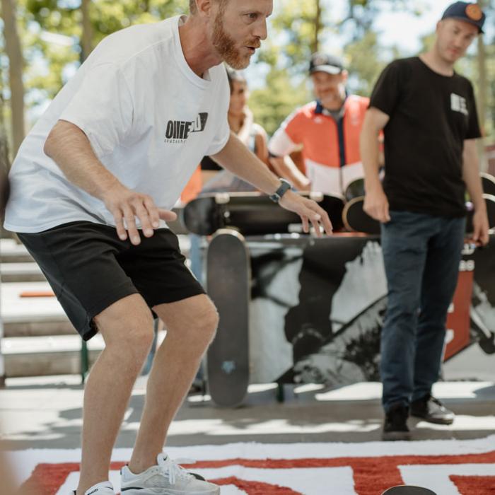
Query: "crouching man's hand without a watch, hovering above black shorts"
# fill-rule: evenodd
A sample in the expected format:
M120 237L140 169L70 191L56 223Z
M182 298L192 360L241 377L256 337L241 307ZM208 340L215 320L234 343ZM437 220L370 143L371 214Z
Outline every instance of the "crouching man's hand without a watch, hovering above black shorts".
M173 211L163 210L156 206L148 194L135 192L122 184L115 184L105 192L103 202L115 219L117 235L121 240L129 240L132 244L141 243L136 227L136 218L141 223L143 235L151 237L160 220L172 221L177 219ZM125 221L125 223L124 223Z

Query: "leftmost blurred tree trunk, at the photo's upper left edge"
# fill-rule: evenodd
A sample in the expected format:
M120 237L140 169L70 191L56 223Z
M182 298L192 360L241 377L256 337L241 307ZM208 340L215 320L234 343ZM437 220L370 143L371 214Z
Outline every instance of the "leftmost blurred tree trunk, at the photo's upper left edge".
M23 52L16 23L13 0L1 0L4 19L5 51L8 57L8 79L11 89L12 152L15 156L24 139Z

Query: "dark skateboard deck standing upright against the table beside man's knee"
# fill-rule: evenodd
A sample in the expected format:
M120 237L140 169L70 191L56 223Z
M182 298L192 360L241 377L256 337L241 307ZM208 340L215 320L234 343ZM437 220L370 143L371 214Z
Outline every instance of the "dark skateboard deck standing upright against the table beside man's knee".
M206 287L219 311L219 328L206 355L211 399L223 407L243 402L249 384L250 257L244 238L218 231L206 255Z

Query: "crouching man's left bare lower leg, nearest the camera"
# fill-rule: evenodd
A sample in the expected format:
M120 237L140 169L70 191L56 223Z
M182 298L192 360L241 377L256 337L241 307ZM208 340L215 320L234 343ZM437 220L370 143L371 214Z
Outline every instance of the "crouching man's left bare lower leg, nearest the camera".
M83 405L81 477L77 495L108 479L115 439L132 386L153 342L151 311L138 294L95 318L105 349L91 368Z

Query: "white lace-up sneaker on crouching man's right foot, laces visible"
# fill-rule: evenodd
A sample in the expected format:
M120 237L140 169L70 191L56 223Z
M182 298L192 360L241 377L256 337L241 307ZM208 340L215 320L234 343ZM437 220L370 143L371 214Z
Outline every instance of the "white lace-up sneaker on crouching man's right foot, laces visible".
M122 467L122 495L220 495L220 487L197 479L167 455L158 454L156 462L156 466L141 474L133 474L129 467Z

